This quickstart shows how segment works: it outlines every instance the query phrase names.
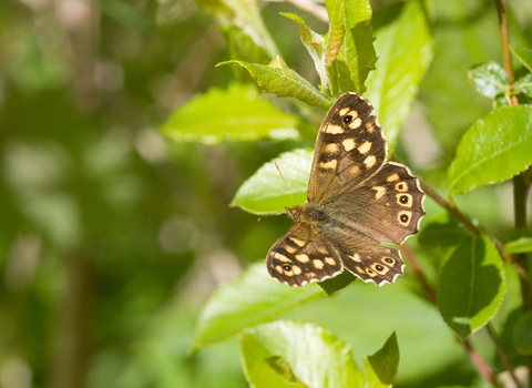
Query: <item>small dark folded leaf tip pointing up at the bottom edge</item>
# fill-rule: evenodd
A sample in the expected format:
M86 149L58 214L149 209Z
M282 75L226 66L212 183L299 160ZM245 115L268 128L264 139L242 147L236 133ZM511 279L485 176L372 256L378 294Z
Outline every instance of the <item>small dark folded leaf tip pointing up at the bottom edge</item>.
M385 388L393 386L399 370L399 345L393 331L385 346L375 355L364 359L368 372L365 388Z

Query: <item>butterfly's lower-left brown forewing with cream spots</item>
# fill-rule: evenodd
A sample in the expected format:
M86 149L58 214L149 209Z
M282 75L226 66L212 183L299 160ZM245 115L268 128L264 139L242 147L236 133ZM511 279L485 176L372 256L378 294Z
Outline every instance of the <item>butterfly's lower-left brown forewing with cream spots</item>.
M296 223L268 251L269 275L290 286L303 286L338 275L341 261L332 245L316 228Z

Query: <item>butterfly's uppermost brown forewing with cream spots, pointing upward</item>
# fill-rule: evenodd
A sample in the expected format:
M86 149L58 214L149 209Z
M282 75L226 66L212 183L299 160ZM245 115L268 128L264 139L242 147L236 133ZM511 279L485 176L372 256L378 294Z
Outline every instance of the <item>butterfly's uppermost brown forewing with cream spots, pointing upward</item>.
M372 110L357 93L342 94L330 108L316 139L309 202L334 200L347 186L360 184L382 166L387 146Z

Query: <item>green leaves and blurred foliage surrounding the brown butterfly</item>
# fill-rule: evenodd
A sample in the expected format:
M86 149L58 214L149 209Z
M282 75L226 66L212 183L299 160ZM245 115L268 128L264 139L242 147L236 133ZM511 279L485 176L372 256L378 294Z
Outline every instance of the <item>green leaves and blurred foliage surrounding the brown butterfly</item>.
M0 385L480 388L532 369L530 216L512 219L532 9L508 9L509 76L492 1L382 3L2 2ZM255 263L291 221L257 215L306 201L347 91L427 216L393 286L291 288Z

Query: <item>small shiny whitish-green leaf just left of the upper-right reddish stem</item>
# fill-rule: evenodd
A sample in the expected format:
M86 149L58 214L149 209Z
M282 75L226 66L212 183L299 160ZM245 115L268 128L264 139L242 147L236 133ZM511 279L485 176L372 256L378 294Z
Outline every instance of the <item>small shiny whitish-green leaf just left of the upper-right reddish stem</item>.
M474 89L489 99L504 94L508 88L507 73L497 62L475 65L469 70L468 76Z

